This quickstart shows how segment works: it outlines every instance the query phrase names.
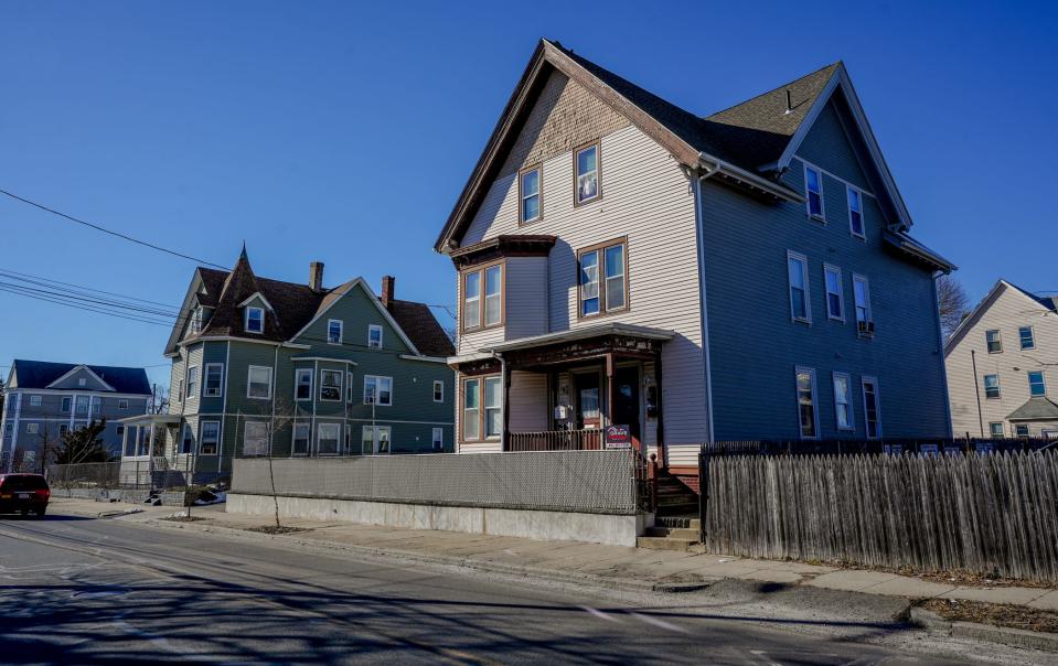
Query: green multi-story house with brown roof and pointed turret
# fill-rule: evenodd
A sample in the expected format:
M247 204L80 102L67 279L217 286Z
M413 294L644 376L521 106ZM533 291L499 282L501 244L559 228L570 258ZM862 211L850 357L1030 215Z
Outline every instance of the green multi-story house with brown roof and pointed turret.
M182 312L169 413L126 421L129 464L153 452L207 480L233 455L452 450L451 341L393 277L381 298L361 278L324 288L320 262L307 283L270 280L244 248L231 271L195 270Z

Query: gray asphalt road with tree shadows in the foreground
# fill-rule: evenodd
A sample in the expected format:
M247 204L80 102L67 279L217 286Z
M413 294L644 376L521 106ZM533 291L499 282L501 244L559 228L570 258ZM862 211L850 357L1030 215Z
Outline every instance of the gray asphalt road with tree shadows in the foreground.
M6 664L943 663L795 617L600 599L129 522L0 519Z

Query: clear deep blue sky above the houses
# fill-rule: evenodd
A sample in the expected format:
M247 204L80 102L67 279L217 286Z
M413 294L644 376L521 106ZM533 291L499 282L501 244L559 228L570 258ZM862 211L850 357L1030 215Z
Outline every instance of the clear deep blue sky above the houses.
M377 290L393 272L399 297L451 303L432 241L548 36L703 115L842 58L915 234L962 267L971 298L1001 276L1058 290L1055 3L7 1L0 14L0 187L225 266L245 239L267 277L304 280L319 259L328 283ZM0 197L0 268L177 305L193 264ZM0 364L162 364L167 335L0 292Z

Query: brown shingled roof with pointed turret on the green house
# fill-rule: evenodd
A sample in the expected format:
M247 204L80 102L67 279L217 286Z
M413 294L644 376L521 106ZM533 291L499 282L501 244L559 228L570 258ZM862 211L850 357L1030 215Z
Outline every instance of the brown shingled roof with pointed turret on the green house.
M338 287L319 292L313 291L308 284L259 278L254 273L245 248L231 271L199 267L195 276L186 300L199 298L199 302L202 304L212 303L209 307L213 308L213 313L199 334L184 339L188 341L220 336L289 342L303 333L309 324L319 319L351 289L360 286L384 316L392 320L391 323L404 336L413 353L426 356L450 355L447 352L451 350L451 341L449 341L448 335L445 334L443 329L427 305L412 301L397 301L404 303L398 309L399 315L393 309L387 311L362 278L354 278ZM200 293L195 297L196 292L193 290L199 281L201 281L205 294ZM265 313L264 333L247 333L244 331L241 309L254 296L259 296L269 305ZM183 331L183 319L177 322L173 332L175 337L170 339L171 348L167 348L167 353L175 351ZM435 340L435 337L440 340ZM432 353L437 351L446 351L446 353Z

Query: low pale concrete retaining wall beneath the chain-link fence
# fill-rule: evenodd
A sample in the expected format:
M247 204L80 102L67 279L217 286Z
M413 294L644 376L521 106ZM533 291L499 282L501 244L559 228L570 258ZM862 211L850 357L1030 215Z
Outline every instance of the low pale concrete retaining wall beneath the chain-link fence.
M275 504L268 495L228 493L226 511L271 516ZM635 537L654 524L653 514L607 515L287 496L279 497L279 515L610 546L635 546Z

